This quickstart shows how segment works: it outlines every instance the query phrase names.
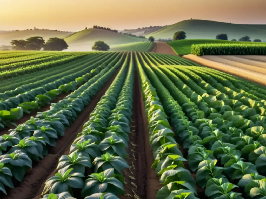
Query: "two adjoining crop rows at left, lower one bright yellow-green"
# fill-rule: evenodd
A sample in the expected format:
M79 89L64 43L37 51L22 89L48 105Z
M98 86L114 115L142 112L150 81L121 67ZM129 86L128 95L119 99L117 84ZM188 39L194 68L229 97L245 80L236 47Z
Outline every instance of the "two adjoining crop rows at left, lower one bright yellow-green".
M86 83L88 79L97 75L103 68L107 67L104 63L117 61L121 55L122 54L118 55L118 53L110 54L105 58L99 59L97 62L95 62L97 59L93 59L84 64L88 67L82 70L27 92L25 92L25 90L29 89L27 89L26 86L23 86L23 88L20 87L24 93L18 94L15 97L10 97L0 103L0 124L2 123L5 126L9 126L10 122L20 119L23 113L29 114L32 110L49 104L50 101L55 99L59 94L76 90L77 86ZM84 65L82 66L84 67ZM20 88L14 90L14 92L17 92ZM9 94L11 93L9 92Z

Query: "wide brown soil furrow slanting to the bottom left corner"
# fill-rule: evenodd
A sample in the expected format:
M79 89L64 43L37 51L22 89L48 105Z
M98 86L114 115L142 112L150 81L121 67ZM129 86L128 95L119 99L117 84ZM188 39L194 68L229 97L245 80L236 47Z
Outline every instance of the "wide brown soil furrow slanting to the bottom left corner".
M119 70L117 70L113 77L99 90L92 101L90 101L89 105L78 116L77 120L65 130L65 136L57 140L56 146L48 148L49 154L47 154L44 159L37 162L32 169L29 169L23 181L17 183L14 189L7 189L7 195L0 193L1 199L41 198L41 192L44 188L45 181L57 173L56 167L59 158L61 155L69 154L68 152L72 142L76 139L77 134L82 131L82 127L89 119L90 113L105 94L118 72Z

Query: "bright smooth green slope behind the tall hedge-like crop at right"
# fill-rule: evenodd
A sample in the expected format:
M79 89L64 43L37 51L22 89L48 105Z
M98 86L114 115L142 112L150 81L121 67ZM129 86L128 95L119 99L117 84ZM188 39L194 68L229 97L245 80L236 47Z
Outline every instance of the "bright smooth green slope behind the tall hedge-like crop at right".
M217 39L185 39L178 41L170 41L168 44L173 47L178 55L191 54L192 44L207 44L207 43L250 43L250 42L239 42L239 41L227 41ZM254 44L254 42L251 42Z

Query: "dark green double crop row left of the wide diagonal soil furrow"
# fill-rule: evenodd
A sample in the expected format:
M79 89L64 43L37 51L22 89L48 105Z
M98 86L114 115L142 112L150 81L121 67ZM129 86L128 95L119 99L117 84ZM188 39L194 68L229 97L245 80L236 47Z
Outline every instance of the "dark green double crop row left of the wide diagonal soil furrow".
M52 104L50 110L40 112L36 118L10 129L9 135L0 136L0 190L6 193L5 186L13 188L12 179L22 181L26 170L32 167L32 161L39 161L47 154L48 146L55 146L58 136L64 136L68 127L77 115L87 106L93 96L113 76L124 61L109 61L97 75L84 85Z

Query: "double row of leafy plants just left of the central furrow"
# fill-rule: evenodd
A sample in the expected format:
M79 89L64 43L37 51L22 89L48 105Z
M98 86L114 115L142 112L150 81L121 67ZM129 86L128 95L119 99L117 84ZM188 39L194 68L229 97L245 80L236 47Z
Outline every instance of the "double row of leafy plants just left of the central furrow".
M72 193L73 188L79 189L86 199L101 195L117 199L115 196L123 194L124 178L120 171L129 167L124 157L133 102L133 62L131 57L128 68L129 59L128 54L117 77L70 147L69 155L59 159L58 173L46 181L42 194L59 196L62 192ZM92 171L87 179L86 167ZM60 175L67 177L57 180ZM75 183L69 183L73 178Z

